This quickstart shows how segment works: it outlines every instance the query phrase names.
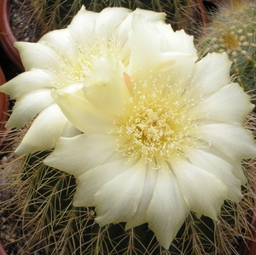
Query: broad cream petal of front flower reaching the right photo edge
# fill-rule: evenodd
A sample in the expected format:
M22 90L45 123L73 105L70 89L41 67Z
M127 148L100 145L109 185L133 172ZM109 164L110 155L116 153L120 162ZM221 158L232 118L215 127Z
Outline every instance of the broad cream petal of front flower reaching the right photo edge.
M210 142L235 161L256 156L253 134L241 125L201 125L201 139Z

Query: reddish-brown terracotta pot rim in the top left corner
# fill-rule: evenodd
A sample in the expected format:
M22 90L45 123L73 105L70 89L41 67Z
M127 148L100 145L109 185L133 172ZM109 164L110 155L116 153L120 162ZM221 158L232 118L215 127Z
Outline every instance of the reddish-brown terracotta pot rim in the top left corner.
M18 49L15 48L14 43L17 42L15 35L10 27L10 0L1 0L0 4L0 43L9 59L15 64L20 71L24 71L24 67L20 60Z

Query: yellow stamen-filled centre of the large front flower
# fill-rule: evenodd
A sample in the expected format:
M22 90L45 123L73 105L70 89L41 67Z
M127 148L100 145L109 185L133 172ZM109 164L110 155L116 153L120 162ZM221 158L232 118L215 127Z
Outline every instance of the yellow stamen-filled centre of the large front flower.
M187 113L195 101L183 96L184 90L159 87L155 84L148 90L147 84L133 86L129 111L120 111L120 115L126 116L125 123L119 124L114 131L126 138L125 144L117 144L117 150L124 156L143 156L155 165L157 159L183 156L183 148L188 151L189 147L202 146L197 120Z

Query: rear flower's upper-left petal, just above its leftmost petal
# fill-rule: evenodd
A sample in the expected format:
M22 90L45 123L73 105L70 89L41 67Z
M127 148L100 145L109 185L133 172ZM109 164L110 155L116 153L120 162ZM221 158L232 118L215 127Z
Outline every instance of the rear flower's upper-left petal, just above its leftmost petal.
M61 65L61 57L54 49L42 43L16 42L20 58L26 71L32 68L55 69Z

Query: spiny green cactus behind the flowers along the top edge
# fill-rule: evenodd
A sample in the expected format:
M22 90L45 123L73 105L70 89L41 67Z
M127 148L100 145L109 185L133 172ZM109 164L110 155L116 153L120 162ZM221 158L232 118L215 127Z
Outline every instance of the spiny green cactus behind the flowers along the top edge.
M95 12L100 12L106 7L124 7L131 10L139 8L166 12L166 21L171 23L175 30L189 28L189 21L195 13L195 8L197 8L194 0L40 0L39 3L37 1L37 4L41 9L40 20L44 20L43 33L66 27L82 5Z

